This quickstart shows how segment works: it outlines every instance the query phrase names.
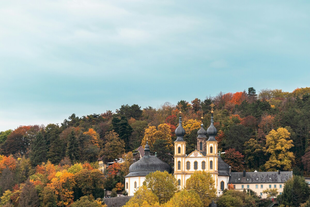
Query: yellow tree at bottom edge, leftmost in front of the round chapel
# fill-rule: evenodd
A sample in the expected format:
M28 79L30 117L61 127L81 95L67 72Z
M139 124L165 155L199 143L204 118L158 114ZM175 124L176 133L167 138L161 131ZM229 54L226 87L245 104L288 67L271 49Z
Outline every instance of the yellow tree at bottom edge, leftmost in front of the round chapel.
M137 191L134 193L134 197L132 197L126 205L123 207L151 207L158 206L158 197L155 196L152 191L150 191L145 185L139 187Z

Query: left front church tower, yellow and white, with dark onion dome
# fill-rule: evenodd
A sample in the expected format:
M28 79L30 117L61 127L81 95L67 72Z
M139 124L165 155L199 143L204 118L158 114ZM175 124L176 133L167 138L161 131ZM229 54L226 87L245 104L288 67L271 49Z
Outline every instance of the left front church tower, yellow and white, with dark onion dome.
M185 135L185 130L182 127L182 117L180 111L179 126L175 129L175 156L174 156L174 174L178 181L180 187L185 186L185 157L186 157L186 142L183 137Z

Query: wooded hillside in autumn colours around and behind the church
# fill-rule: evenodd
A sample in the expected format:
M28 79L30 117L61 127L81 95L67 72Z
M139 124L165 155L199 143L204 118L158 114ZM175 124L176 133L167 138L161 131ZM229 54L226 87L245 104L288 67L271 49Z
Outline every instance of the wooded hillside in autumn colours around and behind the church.
M104 206L95 199L104 196L104 189L114 195L124 191L124 176L140 145L148 141L151 154L173 166L179 111L186 153L194 151L201 123L205 128L210 125L211 103L219 152L232 171L292 170L295 175L310 175L310 88L248 88L156 108L126 104L115 113L72 114L60 125L3 131L0 206ZM97 162L101 156L105 162L124 162L102 173Z

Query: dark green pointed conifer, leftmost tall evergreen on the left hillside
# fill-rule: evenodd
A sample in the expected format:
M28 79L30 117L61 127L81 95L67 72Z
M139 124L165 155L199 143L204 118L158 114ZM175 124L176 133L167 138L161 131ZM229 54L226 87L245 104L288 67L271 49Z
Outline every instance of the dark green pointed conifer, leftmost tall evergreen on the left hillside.
M36 138L33 140L31 146L31 151L29 152L29 158L31 164L33 166L37 166L38 164L42 164L42 162L46 162L46 140L42 132L38 132Z

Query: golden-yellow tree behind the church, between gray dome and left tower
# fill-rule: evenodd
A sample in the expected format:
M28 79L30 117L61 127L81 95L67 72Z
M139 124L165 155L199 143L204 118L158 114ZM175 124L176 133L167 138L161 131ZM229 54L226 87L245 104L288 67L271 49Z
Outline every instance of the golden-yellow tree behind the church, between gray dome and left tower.
M171 130L168 124L159 124L157 129L155 126L146 128L141 145L145 146L146 142L148 142L148 145L153 147L154 142L159 139L166 140L170 143L169 147L172 148Z

